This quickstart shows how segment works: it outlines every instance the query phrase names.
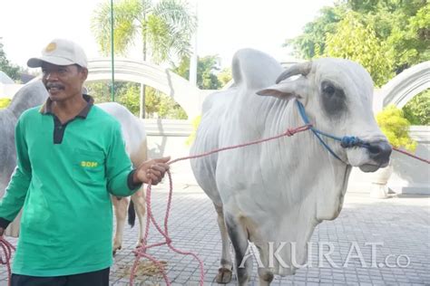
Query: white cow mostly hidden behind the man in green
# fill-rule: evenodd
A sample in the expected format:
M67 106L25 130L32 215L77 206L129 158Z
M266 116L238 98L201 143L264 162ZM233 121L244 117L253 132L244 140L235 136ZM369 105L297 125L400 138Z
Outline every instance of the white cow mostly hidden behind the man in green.
M5 187L16 165L14 132L16 122L24 110L43 104L47 97L48 93L42 81L34 81L26 84L16 93L9 107L5 110L0 110L0 138L2 138L2 144L0 144L0 197L3 196ZM110 113L121 123L127 153L130 155L134 166L140 165L147 159L146 133L143 122L118 103L109 102L98 104L97 106ZM137 246L140 246L144 230L143 216L145 215L145 194L143 188L132 195L132 202L134 204L130 204L129 223L134 224L135 208L140 225ZM112 196L112 203L115 208L117 224L113 239L113 253L115 253L122 246L122 234L129 199L119 199ZM19 217L15 219L15 223L9 225L6 234L18 236Z

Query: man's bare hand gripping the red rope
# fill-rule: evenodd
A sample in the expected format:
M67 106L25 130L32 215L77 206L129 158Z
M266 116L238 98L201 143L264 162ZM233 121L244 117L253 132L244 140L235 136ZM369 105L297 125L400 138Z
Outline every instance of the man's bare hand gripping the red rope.
M170 159L171 157L161 157L143 162L141 166L136 168L133 174L133 183L148 184L151 181L151 185L157 185L161 182L162 177L169 169L167 162L169 162Z

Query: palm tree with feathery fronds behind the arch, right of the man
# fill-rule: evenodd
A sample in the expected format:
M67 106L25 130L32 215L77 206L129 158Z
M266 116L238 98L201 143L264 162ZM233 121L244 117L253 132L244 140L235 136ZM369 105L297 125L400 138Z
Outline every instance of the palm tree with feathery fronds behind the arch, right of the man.
M154 63L190 56L191 35L197 18L182 0L121 0L113 4L114 53L125 55L137 38L142 39L142 59ZM93 15L92 30L104 55L111 53L111 4L99 5ZM144 106L142 85L141 106ZM144 114L141 107L141 116Z

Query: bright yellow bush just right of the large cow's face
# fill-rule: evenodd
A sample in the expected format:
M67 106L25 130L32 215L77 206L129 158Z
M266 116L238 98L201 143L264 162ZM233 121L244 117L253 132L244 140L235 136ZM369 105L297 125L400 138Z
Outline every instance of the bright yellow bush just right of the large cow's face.
M393 147L415 150L416 142L409 136L411 123L405 118L402 110L389 105L376 114L376 122Z

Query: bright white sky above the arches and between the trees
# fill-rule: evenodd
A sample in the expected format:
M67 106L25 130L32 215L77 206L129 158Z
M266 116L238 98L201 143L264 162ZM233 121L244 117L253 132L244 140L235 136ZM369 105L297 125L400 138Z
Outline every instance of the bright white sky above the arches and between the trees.
M80 43L88 58L99 57L91 32L93 10L109 0L14 0L0 5L0 37L10 62L26 67L54 38ZM291 59L282 48L287 38L334 0L190 0L198 13L197 53L217 54L222 67L229 67L234 52L254 48L268 52L280 62ZM197 5L196 5L197 3ZM197 8L196 8L197 6ZM142 59L139 46L130 58Z

